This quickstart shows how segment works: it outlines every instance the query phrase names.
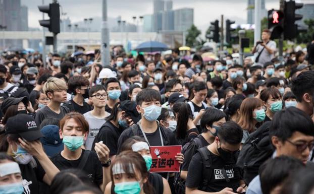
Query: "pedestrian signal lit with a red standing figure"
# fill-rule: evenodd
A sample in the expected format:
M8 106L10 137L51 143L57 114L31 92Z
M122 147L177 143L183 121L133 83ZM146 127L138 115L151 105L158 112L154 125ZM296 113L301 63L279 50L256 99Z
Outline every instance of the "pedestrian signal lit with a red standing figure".
M271 39L280 38L283 32L284 13L280 10L268 11L268 29L271 31Z

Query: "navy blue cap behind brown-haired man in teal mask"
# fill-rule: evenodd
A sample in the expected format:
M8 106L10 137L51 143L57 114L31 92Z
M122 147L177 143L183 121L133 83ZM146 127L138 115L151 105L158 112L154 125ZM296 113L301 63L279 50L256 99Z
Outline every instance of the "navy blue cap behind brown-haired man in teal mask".
M54 156L64 149L64 144L59 135L59 126L48 124L42 127L40 132L43 134L40 142L48 156Z

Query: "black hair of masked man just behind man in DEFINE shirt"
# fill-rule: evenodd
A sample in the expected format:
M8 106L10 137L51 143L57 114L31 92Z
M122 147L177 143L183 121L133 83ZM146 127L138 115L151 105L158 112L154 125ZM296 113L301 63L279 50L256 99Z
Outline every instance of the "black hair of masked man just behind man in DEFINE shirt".
M203 132L207 132L206 126L213 126L213 122L216 122L226 117L226 114L217 108L207 108L200 119L200 126Z

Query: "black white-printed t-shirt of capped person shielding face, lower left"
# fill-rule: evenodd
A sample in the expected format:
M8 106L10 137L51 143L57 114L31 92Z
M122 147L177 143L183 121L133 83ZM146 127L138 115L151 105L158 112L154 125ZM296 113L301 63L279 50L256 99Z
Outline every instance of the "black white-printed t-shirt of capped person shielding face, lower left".
M35 159L36 166L33 168L30 163L23 165L19 164L22 175L22 184L24 193L37 194L39 193L39 181L42 182L43 176L46 174L40 163Z

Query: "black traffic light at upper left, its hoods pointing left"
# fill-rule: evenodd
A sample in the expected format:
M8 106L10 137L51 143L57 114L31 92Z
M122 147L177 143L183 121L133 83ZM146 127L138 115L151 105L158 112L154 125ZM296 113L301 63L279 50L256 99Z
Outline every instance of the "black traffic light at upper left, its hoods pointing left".
M38 6L40 12L47 13L49 20L39 20L40 26L49 29L49 32L54 34L60 33L60 10L59 4L53 3L46 6Z

